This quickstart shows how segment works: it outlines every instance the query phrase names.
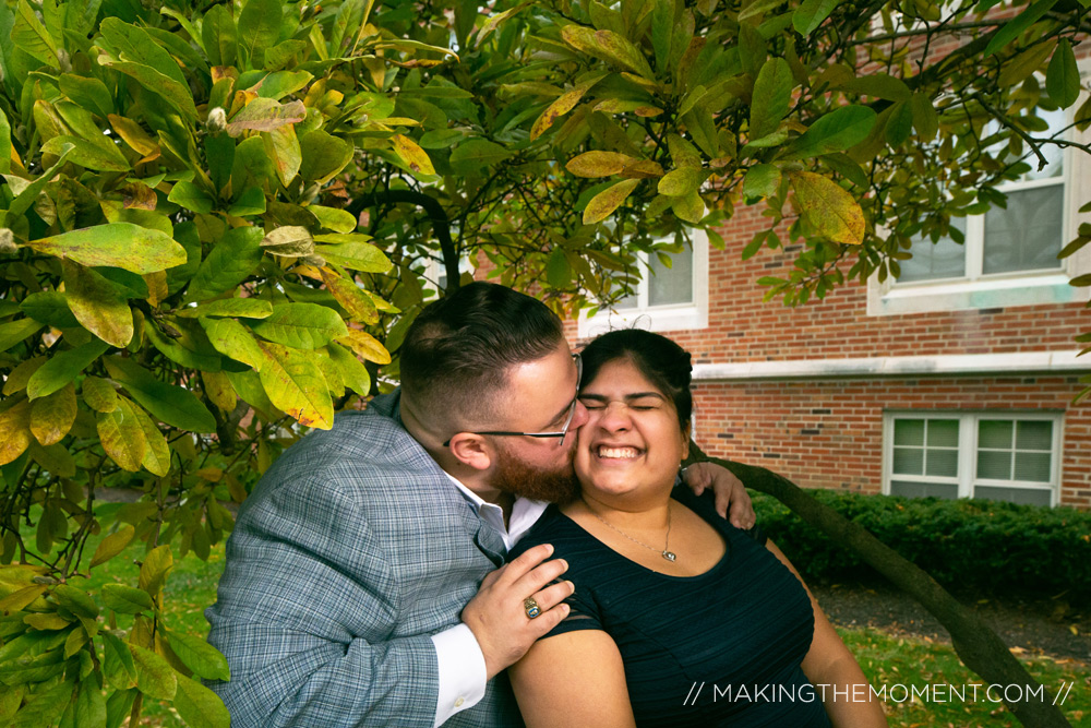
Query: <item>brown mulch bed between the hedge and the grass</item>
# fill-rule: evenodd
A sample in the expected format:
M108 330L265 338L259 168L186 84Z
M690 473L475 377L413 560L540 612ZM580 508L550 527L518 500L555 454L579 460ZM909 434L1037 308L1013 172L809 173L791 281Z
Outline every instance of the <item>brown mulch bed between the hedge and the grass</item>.
M889 586L813 586L815 598L837 626L874 626L895 633L950 641L947 630L916 600ZM1005 644L1030 653L1091 663L1091 605L1072 605L1064 595L961 598Z

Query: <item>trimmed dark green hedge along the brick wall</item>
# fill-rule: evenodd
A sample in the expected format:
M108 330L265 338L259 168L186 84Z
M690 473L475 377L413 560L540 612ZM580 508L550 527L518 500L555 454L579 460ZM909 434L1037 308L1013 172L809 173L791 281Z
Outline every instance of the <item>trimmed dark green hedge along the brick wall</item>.
M946 501L812 493L860 524L956 593L990 595L1067 592L1091 598L1091 513L985 500ZM879 575L779 501L754 494L769 537L807 582L873 582Z

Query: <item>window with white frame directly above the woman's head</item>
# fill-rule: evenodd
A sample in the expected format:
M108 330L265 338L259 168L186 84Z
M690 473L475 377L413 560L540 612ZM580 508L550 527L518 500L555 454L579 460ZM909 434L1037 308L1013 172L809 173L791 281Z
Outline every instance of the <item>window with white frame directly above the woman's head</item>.
M636 293L612 310L580 315L580 338L633 325L650 331L708 326L708 236L693 230L690 238L693 248L672 255L670 267L658 255L638 253L642 274Z

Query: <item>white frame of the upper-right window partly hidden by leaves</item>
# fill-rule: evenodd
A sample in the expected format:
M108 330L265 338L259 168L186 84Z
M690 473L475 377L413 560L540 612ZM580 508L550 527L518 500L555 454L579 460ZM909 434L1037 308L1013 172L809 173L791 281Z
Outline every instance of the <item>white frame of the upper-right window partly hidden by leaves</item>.
M1079 67L1080 80L1086 84L1091 77L1091 59L1080 61ZM1068 108L1068 118L1087 98L1087 92L1082 92L1079 100ZM1069 139L1081 144L1089 144L1091 143L1091 129L1083 132L1075 128L1070 129ZM1091 158L1074 147L1066 147L1063 154L1064 171L1060 183L1064 186L1065 214L1062 227L1062 246L1065 246L1076 237L1076 231L1081 223L1091 223L1091 213L1079 212L1080 206L1091 200ZM1018 192L1057 183L1056 178L1048 178L1009 182L999 189L1004 192ZM1074 288L1068 285L1068 282L1077 276L1091 273L1091 246L1058 261L1055 268L984 275L982 265L985 216L967 217L966 223L964 276L912 282L898 282L888 277L879 283L876 273L867 281L867 314L895 315L1070 303L1088 300L1086 289ZM916 244L928 244L928 241Z

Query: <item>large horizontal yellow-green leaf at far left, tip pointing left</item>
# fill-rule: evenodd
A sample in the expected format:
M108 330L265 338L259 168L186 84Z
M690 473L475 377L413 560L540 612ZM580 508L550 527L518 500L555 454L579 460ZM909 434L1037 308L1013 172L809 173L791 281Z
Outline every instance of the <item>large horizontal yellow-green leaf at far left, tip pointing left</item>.
M169 235L132 223L96 225L26 243L39 253L88 267L108 265L137 275L185 263L185 249Z

